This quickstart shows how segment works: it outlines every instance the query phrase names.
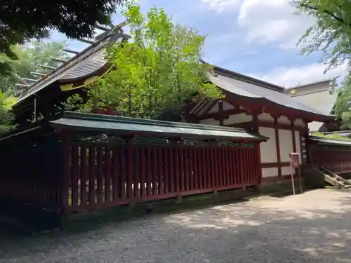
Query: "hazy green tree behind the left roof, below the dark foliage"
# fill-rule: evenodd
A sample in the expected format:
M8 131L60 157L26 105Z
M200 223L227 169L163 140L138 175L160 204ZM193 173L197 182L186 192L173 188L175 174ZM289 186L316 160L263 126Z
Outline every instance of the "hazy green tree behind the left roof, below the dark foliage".
M20 77L27 79L36 79L30 72L48 73L47 69L39 67L46 65L49 67L58 67L60 62L52 60L52 57L67 60L69 57L63 53L65 43L34 41L26 46L14 45L12 50L17 59L11 59L4 54L0 54L0 61L8 66L4 74L0 74L0 83L3 93L14 94L17 91L15 83L21 83ZM23 81L24 84L30 82Z

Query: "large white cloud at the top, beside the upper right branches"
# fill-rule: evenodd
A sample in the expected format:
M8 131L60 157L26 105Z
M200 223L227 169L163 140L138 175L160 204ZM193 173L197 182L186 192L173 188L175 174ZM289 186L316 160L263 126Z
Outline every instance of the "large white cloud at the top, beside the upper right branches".
M294 15L291 0L244 0L238 24L246 29L246 41L275 42L284 49L295 48L296 42L312 25L313 18Z

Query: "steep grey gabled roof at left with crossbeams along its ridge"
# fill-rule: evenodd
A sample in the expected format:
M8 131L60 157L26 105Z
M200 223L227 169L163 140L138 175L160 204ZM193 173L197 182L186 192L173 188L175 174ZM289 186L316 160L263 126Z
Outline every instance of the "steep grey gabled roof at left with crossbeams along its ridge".
M55 82L69 83L77 79L84 79L92 76L99 69L107 64L105 60L105 50L109 43L127 37L126 34L121 32L121 25L114 27L108 34L105 34L101 39L88 46L81 51L78 55L74 56L63 65L54 69L53 72L42 77L36 83L33 83L29 88L27 94L18 100L14 105L16 107L21 104L28 97L38 93L44 88L49 88Z

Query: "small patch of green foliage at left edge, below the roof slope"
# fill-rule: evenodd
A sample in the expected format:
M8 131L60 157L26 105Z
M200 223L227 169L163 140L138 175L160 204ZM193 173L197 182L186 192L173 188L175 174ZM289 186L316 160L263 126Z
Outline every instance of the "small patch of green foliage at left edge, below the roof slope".
M15 102L15 97L0 92L0 135L15 128L11 112L11 107Z

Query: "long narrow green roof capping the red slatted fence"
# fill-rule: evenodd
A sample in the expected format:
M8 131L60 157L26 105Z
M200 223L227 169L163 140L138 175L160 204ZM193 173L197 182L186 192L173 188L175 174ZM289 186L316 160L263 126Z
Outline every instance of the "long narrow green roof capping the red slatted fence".
M208 126L171 121L135 119L101 114L65 112L61 119L51 121L53 128L114 132L131 135L159 135L167 137L231 138L236 140L267 140L259 134L253 134L241 128Z

